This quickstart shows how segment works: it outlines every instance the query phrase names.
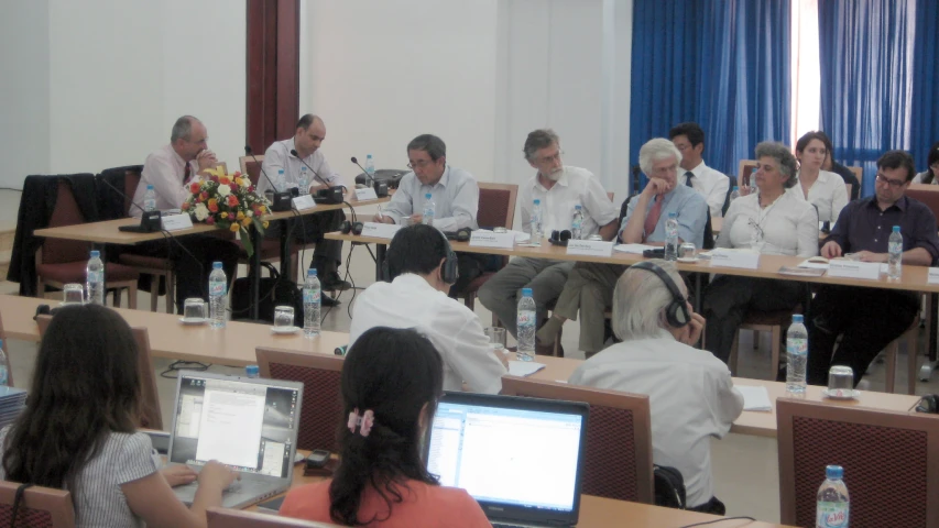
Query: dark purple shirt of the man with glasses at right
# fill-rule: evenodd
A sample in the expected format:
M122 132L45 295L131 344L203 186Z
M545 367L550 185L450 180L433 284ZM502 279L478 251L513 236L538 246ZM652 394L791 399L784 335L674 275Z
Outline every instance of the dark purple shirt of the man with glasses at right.
M903 234L903 251L922 248L932 255L932 264L939 258L939 234L936 217L921 201L906 196L881 211L877 197L854 200L841 210L829 240L838 242L844 253L872 251L887 252L887 239L894 226Z

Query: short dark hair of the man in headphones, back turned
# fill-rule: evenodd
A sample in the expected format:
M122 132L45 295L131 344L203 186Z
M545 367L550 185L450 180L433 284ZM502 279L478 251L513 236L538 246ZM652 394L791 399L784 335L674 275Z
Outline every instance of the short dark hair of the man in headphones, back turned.
M405 273L426 275L433 272L447 257L448 246L449 242L437 228L418 223L400 229L385 254L387 279L394 280Z

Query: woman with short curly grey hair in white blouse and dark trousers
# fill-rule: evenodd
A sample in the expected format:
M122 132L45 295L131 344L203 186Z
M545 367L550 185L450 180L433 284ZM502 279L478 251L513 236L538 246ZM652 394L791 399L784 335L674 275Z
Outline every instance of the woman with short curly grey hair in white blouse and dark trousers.
M756 160L758 191L731 202L717 246L752 249L764 255L817 255L818 213L809 202L788 193L797 183L796 158L786 145L764 142L756 145ZM717 276L705 292L705 348L727 362L749 310L793 309L804 292L795 282Z

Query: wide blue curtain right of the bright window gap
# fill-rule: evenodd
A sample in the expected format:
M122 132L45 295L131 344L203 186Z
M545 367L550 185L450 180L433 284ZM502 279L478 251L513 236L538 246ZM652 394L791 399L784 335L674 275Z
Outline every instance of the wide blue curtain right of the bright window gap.
M873 193L877 157L892 148L910 148L916 1L818 3L822 130L831 138L836 160L864 167L863 196ZM930 2L936 0L920 0ZM928 23L933 35L936 20L933 15ZM936 108L935 87L921 96L932 98L929 103Z

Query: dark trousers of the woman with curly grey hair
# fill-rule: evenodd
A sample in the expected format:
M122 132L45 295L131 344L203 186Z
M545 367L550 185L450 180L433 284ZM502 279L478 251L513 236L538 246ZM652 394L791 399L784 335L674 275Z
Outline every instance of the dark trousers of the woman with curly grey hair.
M795 308L805 295L799 283L720 275L705 290L705 348L728 362L746 312Z

